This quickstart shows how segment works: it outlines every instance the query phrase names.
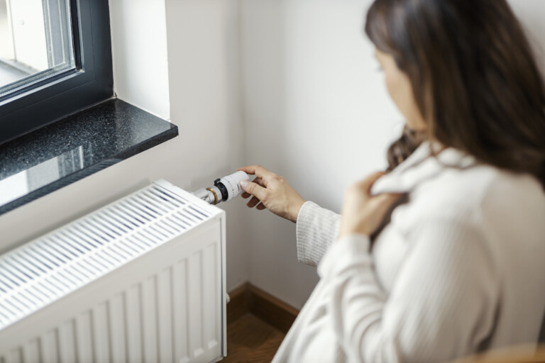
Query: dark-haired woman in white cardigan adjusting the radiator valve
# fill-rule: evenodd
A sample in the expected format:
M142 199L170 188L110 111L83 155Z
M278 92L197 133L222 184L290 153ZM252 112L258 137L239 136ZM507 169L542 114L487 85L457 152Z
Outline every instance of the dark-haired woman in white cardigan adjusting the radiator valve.
M273 362L443 362L536 343L545 90L505 0L376 0L365 32L406 118L342 217L263 167L248 206L297 222L321 280Z

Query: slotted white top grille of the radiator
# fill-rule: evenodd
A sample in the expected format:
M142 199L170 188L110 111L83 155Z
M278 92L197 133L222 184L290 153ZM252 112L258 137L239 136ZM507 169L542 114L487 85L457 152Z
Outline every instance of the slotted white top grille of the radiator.
M0 256L0 330L177 238L213 212L158 181Z

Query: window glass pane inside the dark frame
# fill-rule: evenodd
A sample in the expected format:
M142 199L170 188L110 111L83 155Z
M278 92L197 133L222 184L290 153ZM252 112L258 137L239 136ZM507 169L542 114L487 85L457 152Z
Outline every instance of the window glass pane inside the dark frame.
M75 67L70 0L0 0L0 100Z

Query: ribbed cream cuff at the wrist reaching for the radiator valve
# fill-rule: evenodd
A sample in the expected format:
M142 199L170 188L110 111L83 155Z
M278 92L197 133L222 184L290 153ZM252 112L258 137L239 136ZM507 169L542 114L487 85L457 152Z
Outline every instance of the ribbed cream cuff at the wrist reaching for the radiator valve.
M297 216L297 259L317 266L331 243L336 240L341 216L312 201L301 207Z

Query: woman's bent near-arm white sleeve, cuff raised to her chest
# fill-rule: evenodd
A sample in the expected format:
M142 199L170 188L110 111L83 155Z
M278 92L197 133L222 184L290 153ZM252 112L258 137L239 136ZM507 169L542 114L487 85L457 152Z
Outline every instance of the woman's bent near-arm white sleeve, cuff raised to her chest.
M500 283L478 226L429 220L411 243L388 296L366 236L338 240L322 259L327 309L349 362L444 362L490 336Z

